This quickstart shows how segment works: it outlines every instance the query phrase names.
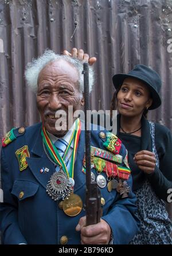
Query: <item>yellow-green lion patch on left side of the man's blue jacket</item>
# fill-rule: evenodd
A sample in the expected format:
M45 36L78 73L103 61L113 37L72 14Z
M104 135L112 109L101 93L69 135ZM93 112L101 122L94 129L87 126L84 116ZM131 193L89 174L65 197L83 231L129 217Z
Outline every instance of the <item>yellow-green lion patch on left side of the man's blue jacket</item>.
M15 155L18 159L19 170L23 171L28 167L26 157L30 157L28 146L23 146L22 148L15 151Z

